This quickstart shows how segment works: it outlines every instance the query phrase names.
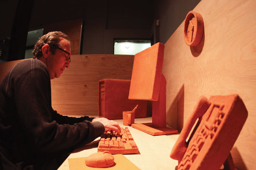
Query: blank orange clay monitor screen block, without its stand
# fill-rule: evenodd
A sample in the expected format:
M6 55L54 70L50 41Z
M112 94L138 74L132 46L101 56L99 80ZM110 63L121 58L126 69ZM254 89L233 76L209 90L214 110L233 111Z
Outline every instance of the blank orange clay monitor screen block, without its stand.
M163 55L163 43L156 43L135 54L129 99L158 100Z

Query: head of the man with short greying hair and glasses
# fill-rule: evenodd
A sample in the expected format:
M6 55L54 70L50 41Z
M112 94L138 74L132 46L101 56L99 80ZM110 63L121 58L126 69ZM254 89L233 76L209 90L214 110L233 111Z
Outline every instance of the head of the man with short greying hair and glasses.
M65 67L69 68L70 55L69 37L62 32L42 36L33 50L33 58L45 63L51 79L60 77Z

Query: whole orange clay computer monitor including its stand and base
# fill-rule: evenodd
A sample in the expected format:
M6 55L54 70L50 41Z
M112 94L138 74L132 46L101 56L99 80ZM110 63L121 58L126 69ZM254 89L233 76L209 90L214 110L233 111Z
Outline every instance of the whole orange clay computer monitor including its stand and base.
M152 123L132 124L151 135L174 134L166 127L166 79L162 74L164 44L156 43L134 56L129 99L152 101ZM139 107L139 106L138 106Z

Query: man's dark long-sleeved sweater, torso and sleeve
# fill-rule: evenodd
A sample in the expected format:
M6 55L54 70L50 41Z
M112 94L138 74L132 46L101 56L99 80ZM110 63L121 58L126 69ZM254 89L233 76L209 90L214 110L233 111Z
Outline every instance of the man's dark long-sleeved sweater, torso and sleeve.
M92 142L105 130L92 119L59 115L52 108L45 64L38 59L18 63L0 83L0 170L37 169Z

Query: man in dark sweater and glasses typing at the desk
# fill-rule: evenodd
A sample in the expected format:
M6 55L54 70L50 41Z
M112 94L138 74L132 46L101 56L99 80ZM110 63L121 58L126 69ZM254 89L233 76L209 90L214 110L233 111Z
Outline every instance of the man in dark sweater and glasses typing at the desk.
M78 145L104 131L120 133L105 118L72 118L54 111L50 79L70 63L70 41L49 32L36 43L33 58L18 63L0 83L0 170L57 169Z

